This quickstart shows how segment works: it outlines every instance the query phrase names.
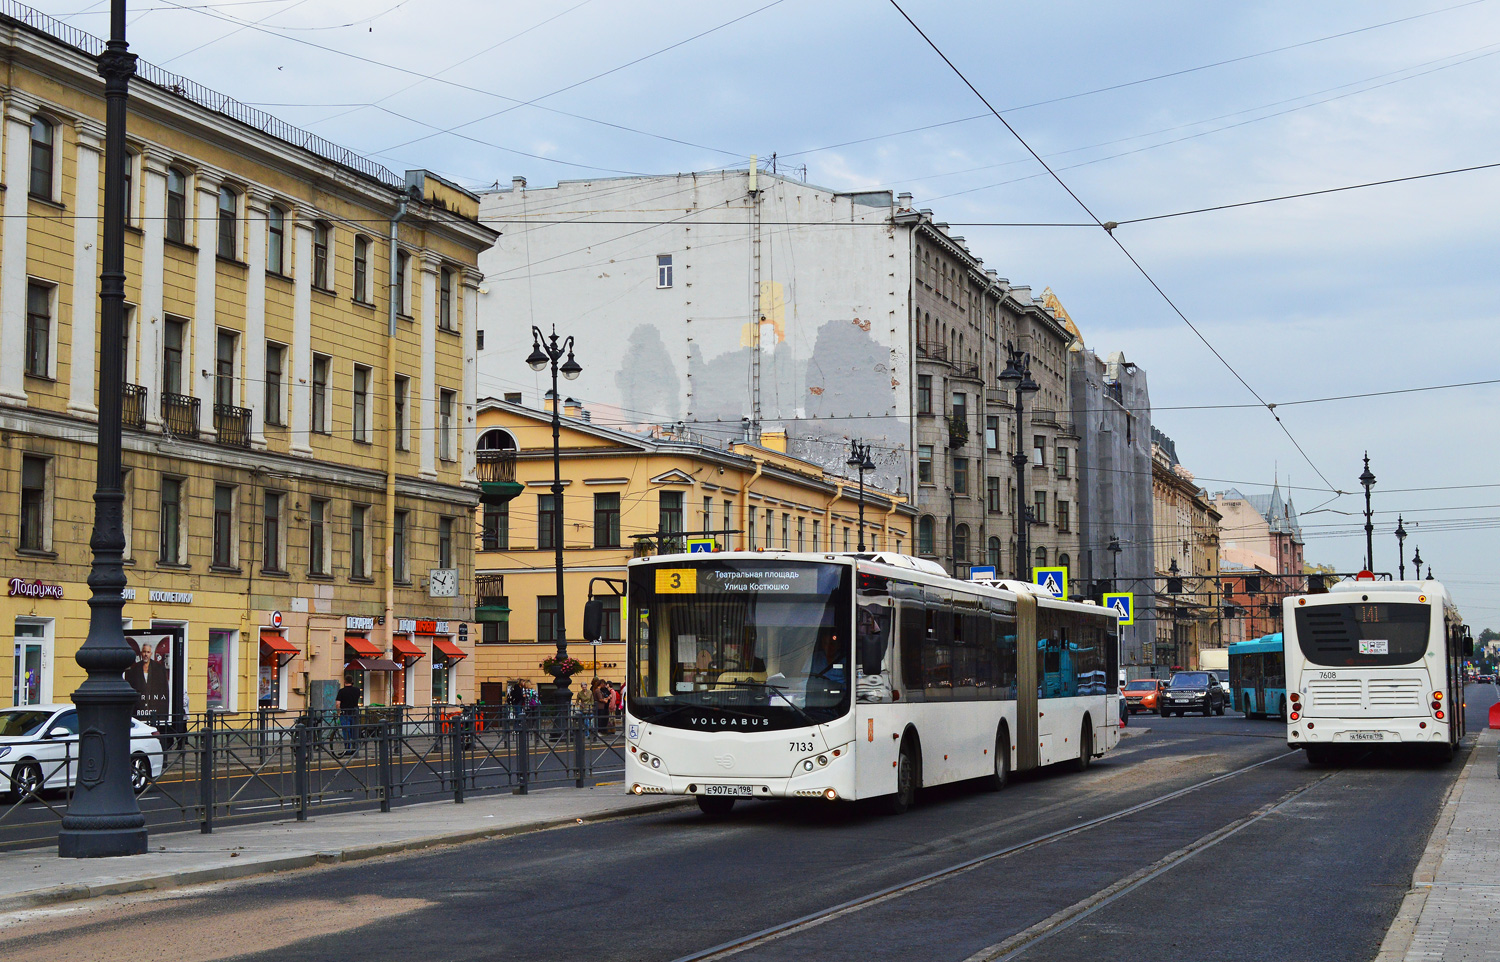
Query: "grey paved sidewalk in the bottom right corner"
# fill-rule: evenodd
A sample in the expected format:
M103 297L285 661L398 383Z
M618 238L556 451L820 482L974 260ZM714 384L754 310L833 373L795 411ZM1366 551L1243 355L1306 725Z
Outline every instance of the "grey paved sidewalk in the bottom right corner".
M1500 962L1500 729L1480 732L1376 962Z

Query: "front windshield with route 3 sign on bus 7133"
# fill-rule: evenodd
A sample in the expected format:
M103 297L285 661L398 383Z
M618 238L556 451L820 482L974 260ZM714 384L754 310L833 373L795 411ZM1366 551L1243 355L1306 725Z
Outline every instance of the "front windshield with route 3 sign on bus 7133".
M630 573L630 713L674 728L771 731L849 711L849 567L682 561Z

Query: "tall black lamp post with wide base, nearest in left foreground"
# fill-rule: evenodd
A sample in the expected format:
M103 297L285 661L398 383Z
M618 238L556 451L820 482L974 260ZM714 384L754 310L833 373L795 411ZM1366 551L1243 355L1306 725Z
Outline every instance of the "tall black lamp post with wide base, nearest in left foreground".
M146 852L146 816L130 789L130 716L138 695L124 680L135 651L124 642L124 491L120 485L120 395L124 357L124 122L135 54L124 42L124 0L110 5L104 77L104 248L99 273L99 443L94 527L88 546L88 638L74 659L88 672L78 705L78 783L68 801L57 854L104 858ZM15 189L15 188L12 188ZM87 221L84 221L87 224Z

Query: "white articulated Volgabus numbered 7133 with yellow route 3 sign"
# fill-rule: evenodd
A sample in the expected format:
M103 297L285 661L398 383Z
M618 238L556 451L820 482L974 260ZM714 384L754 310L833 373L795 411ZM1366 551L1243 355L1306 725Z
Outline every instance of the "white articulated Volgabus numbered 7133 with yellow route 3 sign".
M880 797L1114 747L1118 620L891 554L724 552L628 566L626 785Z

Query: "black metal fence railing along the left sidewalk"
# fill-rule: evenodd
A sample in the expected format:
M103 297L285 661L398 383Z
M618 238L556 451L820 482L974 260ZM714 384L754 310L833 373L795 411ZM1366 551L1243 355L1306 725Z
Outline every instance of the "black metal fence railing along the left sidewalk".
M567 708L513 713L366 708L358 713L204 713L162 728L150 770L135 759L134 786L152 827L214 825L294 816L336 806L452 798L624 771L618 720ZM0 801L0 846L56 839L76 774L76 746L27 762ZM136 747L136 755L142 752ZM8 759L9 761L9 759Z

